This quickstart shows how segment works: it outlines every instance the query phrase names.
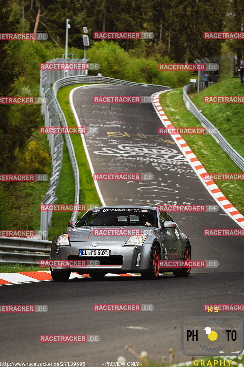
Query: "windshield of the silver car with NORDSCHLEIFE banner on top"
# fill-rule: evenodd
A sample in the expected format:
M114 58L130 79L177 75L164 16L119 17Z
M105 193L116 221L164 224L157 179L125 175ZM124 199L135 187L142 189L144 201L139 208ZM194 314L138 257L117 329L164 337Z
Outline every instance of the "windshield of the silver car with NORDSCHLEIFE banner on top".
M87 225L95 226L148 226L157 225L156 210L142 209L142 208L105 208L105 209L91 209L80 218L76 227L83 227Z

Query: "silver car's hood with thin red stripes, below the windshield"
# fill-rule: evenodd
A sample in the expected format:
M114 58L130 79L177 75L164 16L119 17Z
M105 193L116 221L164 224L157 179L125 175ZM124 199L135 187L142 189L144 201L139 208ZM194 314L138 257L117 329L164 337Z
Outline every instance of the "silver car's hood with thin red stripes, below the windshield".
M99 235L101 232L95 232L95 230L119 230L123 231L123 235ZM76 227L68 229L65 233L69 234L70 242L126 242L128 239L135 234L135 232L129 233L129 230L139 230L140 233L149 234L154 227L144 226L86 226ZM95 235L98 233L98 235ZM105 232L106 233L106 232Z

